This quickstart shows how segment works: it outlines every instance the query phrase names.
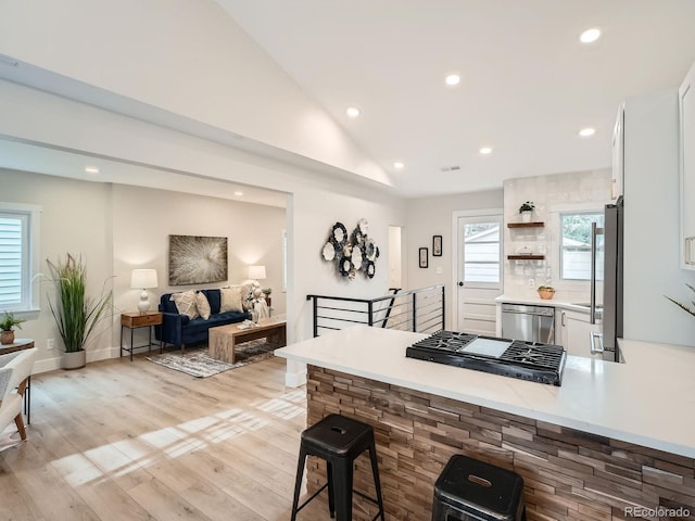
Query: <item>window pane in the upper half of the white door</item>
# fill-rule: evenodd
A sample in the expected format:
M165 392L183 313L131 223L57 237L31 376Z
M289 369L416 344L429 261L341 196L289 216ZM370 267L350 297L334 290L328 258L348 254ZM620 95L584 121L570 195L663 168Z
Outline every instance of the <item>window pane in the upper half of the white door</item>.
M464 227L464 281L500 283L500 223L468 223Z

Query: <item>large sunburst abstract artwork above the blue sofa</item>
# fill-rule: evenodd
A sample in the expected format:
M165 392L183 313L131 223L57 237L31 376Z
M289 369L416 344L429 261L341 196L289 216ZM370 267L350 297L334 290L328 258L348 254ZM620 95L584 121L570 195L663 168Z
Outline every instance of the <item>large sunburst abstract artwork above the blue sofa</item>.
M169 236L169 285L226 280L226 237Z

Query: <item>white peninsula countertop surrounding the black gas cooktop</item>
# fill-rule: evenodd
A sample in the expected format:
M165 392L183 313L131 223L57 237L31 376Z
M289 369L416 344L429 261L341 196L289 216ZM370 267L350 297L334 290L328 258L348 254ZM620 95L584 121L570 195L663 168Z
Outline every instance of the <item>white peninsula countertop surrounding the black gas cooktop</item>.
M424 338L355 326L275 354L695 458L695 347L621 341L626 364L569 356L557 387L406 358Z

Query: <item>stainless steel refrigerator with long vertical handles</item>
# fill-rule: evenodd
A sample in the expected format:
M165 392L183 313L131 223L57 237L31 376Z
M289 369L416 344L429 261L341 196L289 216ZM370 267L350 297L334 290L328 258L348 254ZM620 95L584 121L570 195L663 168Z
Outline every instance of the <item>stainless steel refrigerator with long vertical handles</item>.
M591 321L601 320L603 332L592 333L591 352L609 361L622 361L618 339L622 338L623 211L620 196L606 205L604 227L592 226Z

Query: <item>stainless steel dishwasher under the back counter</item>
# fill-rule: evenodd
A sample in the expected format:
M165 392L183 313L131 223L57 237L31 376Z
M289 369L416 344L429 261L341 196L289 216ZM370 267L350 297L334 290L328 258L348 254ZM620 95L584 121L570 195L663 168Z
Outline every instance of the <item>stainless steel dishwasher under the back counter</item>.
M502 304L502 336L554 344L555 308L526 304Z

